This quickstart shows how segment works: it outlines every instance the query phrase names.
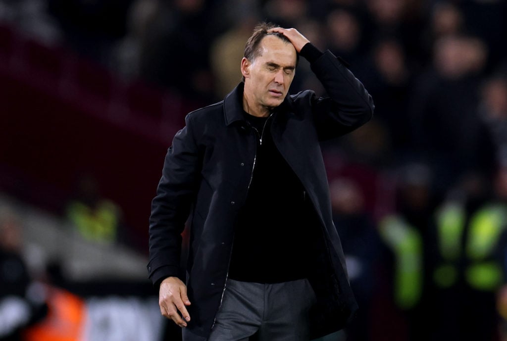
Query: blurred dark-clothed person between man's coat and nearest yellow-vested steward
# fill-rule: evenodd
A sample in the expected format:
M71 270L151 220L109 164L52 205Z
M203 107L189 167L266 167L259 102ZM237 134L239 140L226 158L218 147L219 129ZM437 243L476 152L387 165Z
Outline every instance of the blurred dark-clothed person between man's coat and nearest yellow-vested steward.
M343 245L350 284L359 311L346 328L347 341L374 339L371 334L372 301L376 288L381 241L374 221L364 206L363 193L347 178L336 178L330 184L333 221Z

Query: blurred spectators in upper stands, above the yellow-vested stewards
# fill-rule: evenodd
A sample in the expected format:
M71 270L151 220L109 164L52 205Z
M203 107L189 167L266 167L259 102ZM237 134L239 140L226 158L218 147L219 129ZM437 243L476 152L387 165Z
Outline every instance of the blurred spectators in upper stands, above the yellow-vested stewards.
M441 194L468 170L507 165L506 15L499 0L0 1L1 21L196 108L240 81L257 22L296 27L348 62L376 103L362 135L334 146L380 168L427 163ZM307 88L323 91L303 61L291 92Z

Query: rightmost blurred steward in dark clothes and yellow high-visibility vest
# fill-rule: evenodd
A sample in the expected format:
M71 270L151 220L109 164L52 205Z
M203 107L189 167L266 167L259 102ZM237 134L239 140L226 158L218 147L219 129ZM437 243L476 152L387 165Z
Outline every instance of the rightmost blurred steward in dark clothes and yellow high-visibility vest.
M428 238L432 340L498 340L496 298L507 251L504 169L495 177L496 183L467 172L436 209Z

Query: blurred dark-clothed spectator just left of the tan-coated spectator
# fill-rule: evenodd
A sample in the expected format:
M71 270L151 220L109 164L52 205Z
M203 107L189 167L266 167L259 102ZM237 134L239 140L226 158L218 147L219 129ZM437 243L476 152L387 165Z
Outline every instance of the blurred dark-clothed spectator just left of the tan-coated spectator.
M209 104L214 97L209 67L206 2L203 0L158 1L141 52L143 79L176 93Z

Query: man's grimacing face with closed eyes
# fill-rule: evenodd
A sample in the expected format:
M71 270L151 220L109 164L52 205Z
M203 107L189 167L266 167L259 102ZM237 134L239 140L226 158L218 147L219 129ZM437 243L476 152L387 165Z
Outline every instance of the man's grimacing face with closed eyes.
M253 61L243 58L241 72L245 77L245 96L249 105L274 108L283 102L294 79L296 49L276 35L267 35Z

